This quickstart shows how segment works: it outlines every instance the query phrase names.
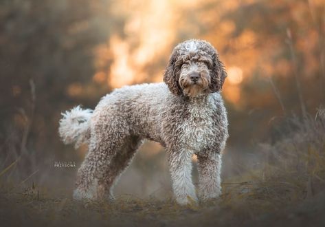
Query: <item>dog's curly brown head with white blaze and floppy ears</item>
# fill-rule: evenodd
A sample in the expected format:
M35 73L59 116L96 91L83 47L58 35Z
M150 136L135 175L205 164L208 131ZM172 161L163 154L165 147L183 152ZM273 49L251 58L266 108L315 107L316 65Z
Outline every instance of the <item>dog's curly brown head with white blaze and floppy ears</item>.
M220 91L226 77L214 47L206 41L189 40L172 51L164 82L177 96L195 97Z

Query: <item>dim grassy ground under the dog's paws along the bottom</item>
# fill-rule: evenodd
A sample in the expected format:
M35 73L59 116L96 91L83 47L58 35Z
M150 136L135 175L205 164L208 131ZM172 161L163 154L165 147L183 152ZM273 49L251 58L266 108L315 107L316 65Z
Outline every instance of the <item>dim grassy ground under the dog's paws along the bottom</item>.
M251 177L251 175L250 175ZM243 180L243 178L242 178ZM8 187L8 186L7 186ZM114 202L75 202L33 185L0 195L1 226L325 226L325 192L308 195L291 182L224 182L223 195L199 206L178 206L172 197ZM8 189L8 188L7 188ZM302 191L300 191L302 189ZM308 196L307 196L308 195Z

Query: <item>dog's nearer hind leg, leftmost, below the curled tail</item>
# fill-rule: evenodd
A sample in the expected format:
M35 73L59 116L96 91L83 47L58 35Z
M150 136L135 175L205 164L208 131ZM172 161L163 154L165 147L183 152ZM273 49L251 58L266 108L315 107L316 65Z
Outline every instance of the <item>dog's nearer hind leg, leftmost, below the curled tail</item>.
M113 158L129 136L128 131L122 130L125 128L123 122L117 120L104 119L93 124L89 151L78 170L74 199L100 199L99 183L107 177Z

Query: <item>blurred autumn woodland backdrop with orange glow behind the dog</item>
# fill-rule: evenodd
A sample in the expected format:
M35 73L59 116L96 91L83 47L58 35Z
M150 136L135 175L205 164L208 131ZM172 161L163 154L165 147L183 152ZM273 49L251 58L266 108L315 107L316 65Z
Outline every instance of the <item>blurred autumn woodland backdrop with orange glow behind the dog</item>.
M71 191L87 147L60 142L60 113L93 109L123 85L161 82L173 47L186 39L212 43L227 69L224 177L258 164L258 144L285 133L282 118L324 105L324 0L3 0L0 171L14 165L3 179ZM170 193L159 144L144 144L115 193Z

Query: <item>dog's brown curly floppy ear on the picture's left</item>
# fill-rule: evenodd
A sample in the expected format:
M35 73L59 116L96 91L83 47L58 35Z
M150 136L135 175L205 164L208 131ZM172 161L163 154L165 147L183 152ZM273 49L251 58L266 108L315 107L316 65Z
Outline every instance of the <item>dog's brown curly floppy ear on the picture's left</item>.
M181 87L179 86L179 82L178 82L180 69L176 65L177 56L178 56L178 49L175 48L172 51L172 55L169 58L168 65L165 70L164 82L168 85L168 88L170 89L172 94L179 96L183 93L181 91Z

